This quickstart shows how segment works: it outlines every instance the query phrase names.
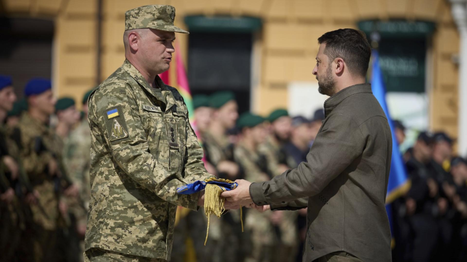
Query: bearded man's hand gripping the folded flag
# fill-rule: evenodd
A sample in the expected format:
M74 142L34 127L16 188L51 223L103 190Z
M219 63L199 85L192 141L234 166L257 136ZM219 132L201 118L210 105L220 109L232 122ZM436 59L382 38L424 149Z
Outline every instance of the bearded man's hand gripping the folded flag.
M251 207L253 204L249 191L251 182L244 179L237 179L235 182L238 183L237 188L220 194L221 197L226 198L224 207L226 209L238 209L240 206Z

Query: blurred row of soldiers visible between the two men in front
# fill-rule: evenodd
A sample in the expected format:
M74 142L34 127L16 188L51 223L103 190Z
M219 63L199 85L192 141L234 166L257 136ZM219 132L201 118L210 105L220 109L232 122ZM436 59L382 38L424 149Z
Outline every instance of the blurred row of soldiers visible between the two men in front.
M266 118L248 112L239 116L235 97L228 91L194 96L193 105L205 167L230 180L262 182L297 167L306 161L324 119L323 110L317 110L312 120L292 118L284 109ZM244 233L238 210L220 220L211 218L206 247L204 212L180 212L183 217L175 228L171 261L187 261L187 254L198 262L301 261L306 210L254 211L243 209Z

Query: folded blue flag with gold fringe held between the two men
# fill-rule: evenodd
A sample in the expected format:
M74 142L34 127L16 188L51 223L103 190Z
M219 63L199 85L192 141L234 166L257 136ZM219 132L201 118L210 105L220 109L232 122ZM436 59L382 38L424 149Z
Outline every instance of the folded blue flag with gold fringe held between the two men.
M224 191L233 190L238 186L238 183L233 182L229 179L210 178L205 181L195 181L186 186L180 186L177 188L179 194L193 194L201 190L205 190L205 214L207 216L207 231L206 240L209 233L209 217L211 214L215 214L218 218L226 210L224 208L225 198L220 196L220 193ZM240 221L241 221L241 232L243 232L243 219L240 207Z

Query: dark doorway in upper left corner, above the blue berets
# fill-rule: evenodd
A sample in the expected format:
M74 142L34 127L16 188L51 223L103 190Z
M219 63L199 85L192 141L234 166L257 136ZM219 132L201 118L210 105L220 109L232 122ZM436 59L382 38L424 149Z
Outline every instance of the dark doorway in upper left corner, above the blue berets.
M54 23L29 18L0 18L0 74L13 78L18 98L32 77L51 78Z

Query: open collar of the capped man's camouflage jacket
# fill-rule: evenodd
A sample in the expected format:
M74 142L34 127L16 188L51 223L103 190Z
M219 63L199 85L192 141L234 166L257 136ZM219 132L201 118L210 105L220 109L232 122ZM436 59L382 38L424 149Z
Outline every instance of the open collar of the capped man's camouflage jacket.
M156 99L160 100L160 97L156 96L154 93L159 92L159 90L156 90L155 88L152 88L148 81L142 76L140 71L136 69L130 61L125 59L125 62L123 62L123 65L121 66L127 73L133 77L136 82L138 82L144 89L148 91L149 94L153 95ZM162 93L162 96L165 98L165 101L161 101L166 104L166 112L170 110L170 108L175 104L175 97L172 94L172 91L169 90L169 87L162 81L162 79L159 76L156 76L156 79L154 81L156 85L160 88L160 92Z

